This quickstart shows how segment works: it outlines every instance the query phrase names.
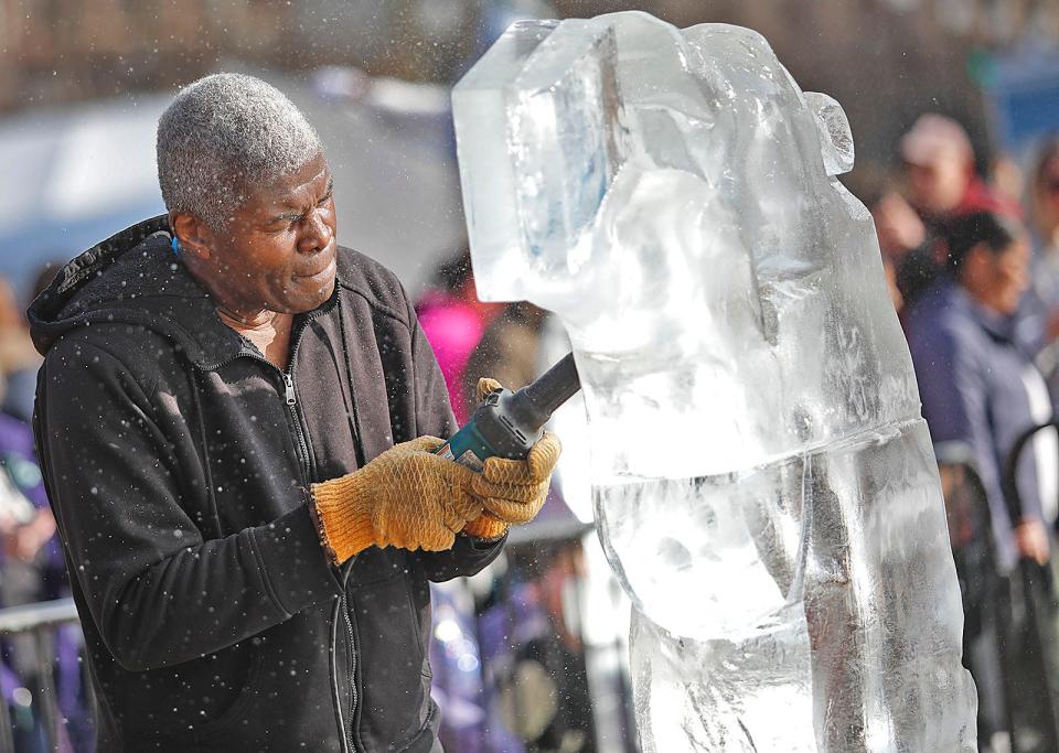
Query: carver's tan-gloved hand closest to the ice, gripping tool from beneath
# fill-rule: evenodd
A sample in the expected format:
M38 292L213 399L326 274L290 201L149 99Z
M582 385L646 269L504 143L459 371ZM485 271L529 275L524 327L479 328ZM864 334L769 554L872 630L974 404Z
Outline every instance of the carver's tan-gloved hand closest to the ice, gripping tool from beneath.
M498 389L502 387L495 379L479 379L479 402ZM471 490L484 509L463 531L484 539L500 538L511 524L532 520L548 495L552 471L561 451L558 438L545 432L526 460L488 459L471 481Z

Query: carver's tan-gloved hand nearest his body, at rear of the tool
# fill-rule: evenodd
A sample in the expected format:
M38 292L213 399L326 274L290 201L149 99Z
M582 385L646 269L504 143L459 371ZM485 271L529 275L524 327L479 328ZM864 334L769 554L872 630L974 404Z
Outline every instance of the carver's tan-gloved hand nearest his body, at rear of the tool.
M364 467L312 485L317 527L335 563L372 545L440 551L482 512L471 493L478 474L434 454L445 444L420 437L392 447Z

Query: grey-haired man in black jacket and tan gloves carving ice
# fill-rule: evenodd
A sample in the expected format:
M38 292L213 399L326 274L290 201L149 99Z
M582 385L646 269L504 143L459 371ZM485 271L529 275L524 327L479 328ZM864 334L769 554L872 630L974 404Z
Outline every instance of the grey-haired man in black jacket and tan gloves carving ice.
M335 245L328 162L275 88L182 90L158 170L168 216L30 312L99 750L437 753L428 581L496 556L558 445L434 454L454 426L427 341Z

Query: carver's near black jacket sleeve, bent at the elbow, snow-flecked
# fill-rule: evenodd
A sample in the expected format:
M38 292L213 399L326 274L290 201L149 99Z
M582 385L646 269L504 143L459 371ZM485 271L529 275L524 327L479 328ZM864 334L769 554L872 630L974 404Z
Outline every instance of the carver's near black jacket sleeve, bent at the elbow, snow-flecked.
M307 505L203 540L150 390L101 347L53 346L34 428L71 575L126 669L217 652L341 593Z

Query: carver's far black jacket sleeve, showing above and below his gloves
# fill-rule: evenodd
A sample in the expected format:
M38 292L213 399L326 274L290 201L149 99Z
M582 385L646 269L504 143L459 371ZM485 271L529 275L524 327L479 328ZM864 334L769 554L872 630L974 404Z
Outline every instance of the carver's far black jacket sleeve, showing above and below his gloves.
M408 306L411 322L411 359L415 384L413 390L416 400L416 435L451 437L456 430L456 417L449 404L448 389L441 367L434 356L430 343L416 319L415 311ZM427 578L441 582L460 575L473 575L496 559L503 549L507 535L496 540L483 539L458 534L456 544L448 551L416 552Z

